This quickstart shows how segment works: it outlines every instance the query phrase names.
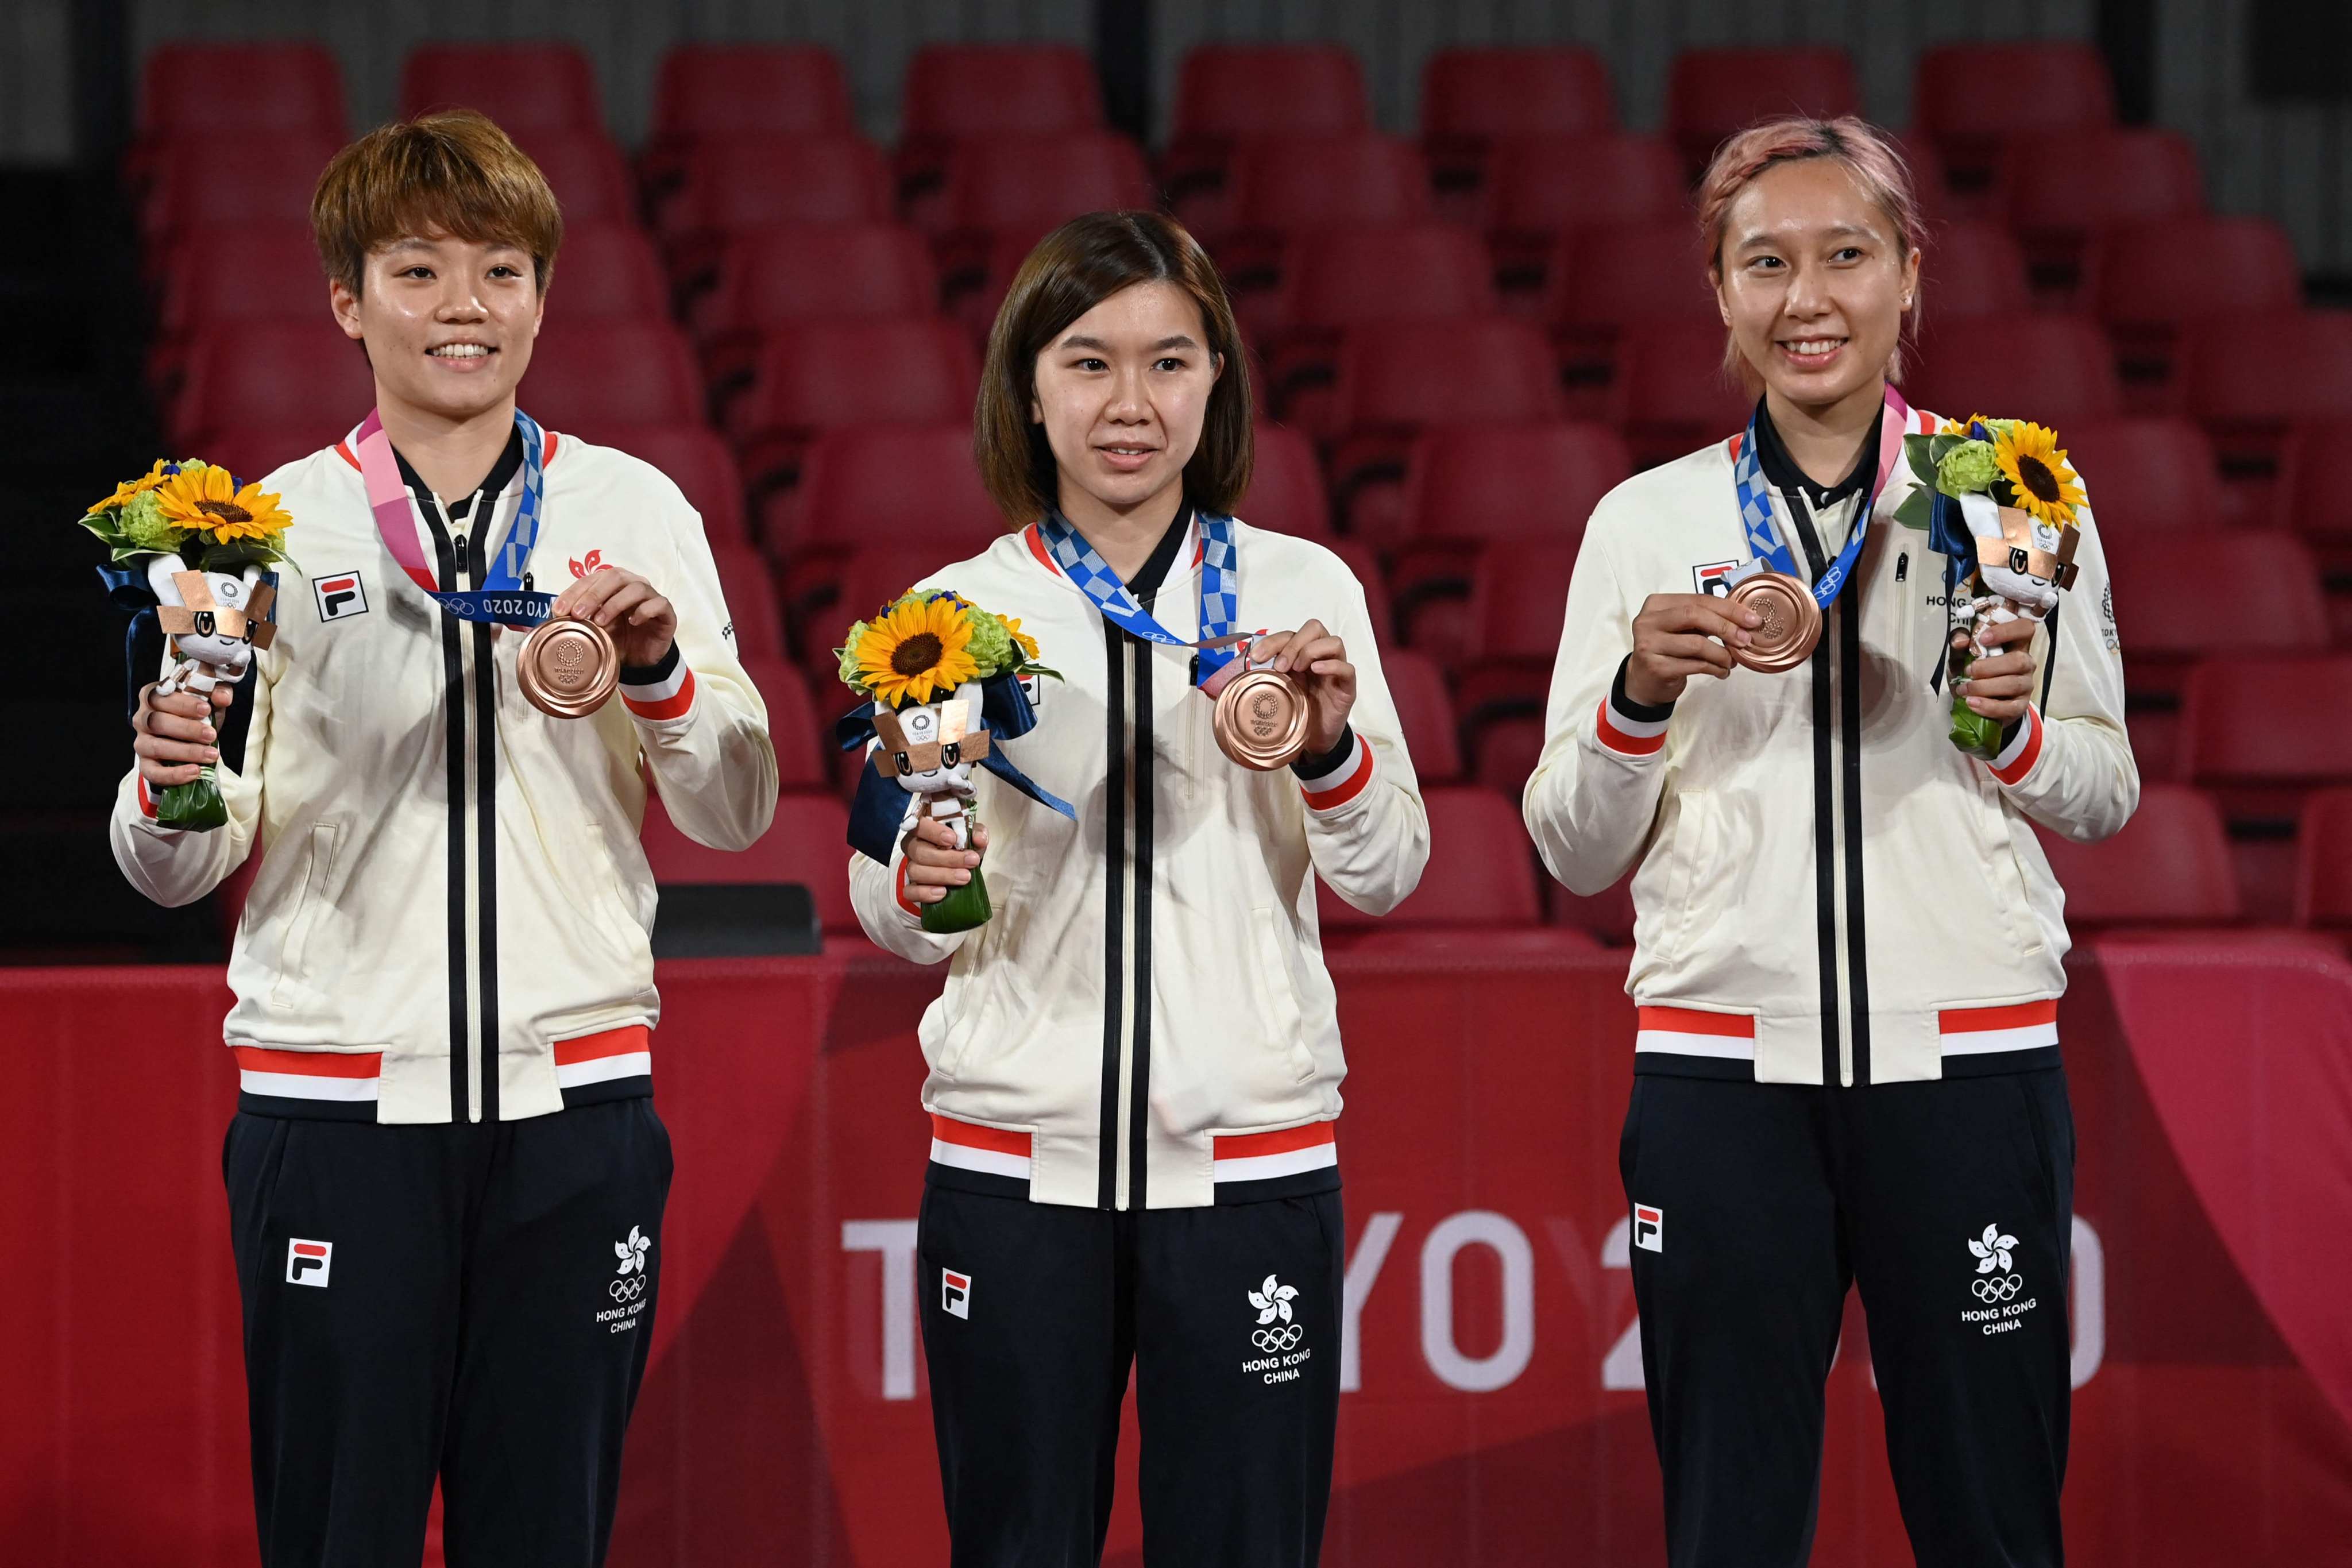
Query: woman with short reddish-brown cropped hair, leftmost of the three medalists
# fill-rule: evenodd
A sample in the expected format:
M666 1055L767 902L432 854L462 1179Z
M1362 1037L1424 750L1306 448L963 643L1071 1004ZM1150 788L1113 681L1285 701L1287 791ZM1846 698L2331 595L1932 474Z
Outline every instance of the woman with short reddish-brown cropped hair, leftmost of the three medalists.
M242 748L223 724L228 825L155 820L216 738L153 686L111 825L165 905L268 844L221 1152L261 1561L416 1568L437 1481L452 1568L593 1568L670 1192L647 780L746 849L776 752L680 489L517 409L562 244L539 165L470 110L383 125L310 226L374 407L261 480L303 567L238 689ZM604 630L612 701L524 698L534 611Z

